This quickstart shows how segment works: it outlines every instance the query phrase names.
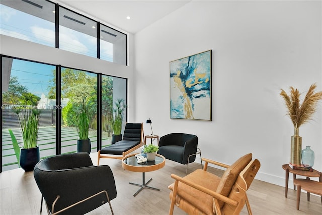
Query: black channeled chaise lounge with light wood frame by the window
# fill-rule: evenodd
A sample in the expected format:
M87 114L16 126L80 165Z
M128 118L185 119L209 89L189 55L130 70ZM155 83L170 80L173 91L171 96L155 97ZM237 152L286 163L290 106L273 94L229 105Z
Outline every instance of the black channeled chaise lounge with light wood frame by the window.
M126 123L123 139L98 151L97 165L100 163L100 158L122 159L140 148L144 145L143 136L143 123Z

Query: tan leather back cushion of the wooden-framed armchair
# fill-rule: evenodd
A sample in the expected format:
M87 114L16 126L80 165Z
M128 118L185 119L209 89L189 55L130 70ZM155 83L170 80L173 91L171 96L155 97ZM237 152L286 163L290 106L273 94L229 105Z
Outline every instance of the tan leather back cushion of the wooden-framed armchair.
M249 153L239 158L237 161L235 161L235 163L229 166L221 177L216 192L227 197L231 192L232 186L235 184L239 174L251 161L252 153ZM224 202L219 201L219 205L220 208L222 208Z

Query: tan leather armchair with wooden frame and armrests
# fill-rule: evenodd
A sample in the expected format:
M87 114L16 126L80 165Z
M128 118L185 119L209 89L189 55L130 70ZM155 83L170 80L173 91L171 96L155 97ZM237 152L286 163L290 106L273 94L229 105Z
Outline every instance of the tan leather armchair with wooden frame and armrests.
M239 158L231 166L209 159L204 159L204 169L198 169L185 177L171 174L175 182L171 190L169 214L173 214L174 205L188 214L239 214L245 203L249 214L252 214L246 191L250 187L260 162L252 161L252 154ZM208 163L227 170L220 178L207 172Z

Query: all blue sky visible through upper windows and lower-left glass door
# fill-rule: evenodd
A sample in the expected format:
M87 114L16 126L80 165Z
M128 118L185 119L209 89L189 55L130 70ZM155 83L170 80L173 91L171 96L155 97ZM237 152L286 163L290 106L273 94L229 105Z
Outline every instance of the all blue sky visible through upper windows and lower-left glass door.
M0 34L55 47L55 24L36 16L0 4ZM54 16L48 14L48 16ZM96 38L59 27L60 48L75 53L96 57ZM113 56L113 44L101 44L101 56ZM105 57L112 61L112 57ZM11 76L18 77L28 91L41 97L48 95L48 82L55 66L23 60L13 60Z

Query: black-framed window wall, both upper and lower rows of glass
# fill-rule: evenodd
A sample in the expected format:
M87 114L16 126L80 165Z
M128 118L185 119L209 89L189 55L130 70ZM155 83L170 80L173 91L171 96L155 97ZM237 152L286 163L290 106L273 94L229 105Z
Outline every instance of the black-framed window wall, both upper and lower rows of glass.
M0 16L0 34L2 35L127 65L126 34L98 21L89 19L82 14L61 7L56 3L47 0L2 0L0 1ZM21 51L25 52L28 50ZM50 57L50 53L48 53L48 57ZM21 78L24 79L24 76L21 74L18 74L17 77L12 76L15 74L12 67L16 68L15 63L20 61L25 64L21 69L16 70L28 71L29 76L26 75L28 74L27 72L24 76L32 79L33 83L27 84L27 79L23 81ZM21 137L16 138L12 130L9 132L11 125L17 126L17 124L9 123L10 120L17 118L17 115L14 115L13 111L7 110L14 106L6 105L22 104L24 97L22 94L19 94L20 90L27 93L26 95L31 97L35 104L37 103L39 107L44 109L41 113L40 125L43 132L39 133L38 138L41 145L41 159L55 154L76 151L78 134L74 132L73 119L68 115L66 116L65 113L70 107L76 108L79 105L79 98L85 95L87 100L94 103L94 106L96 105L96 110L99 110L95 112L90 125L92 151L96 151L102 145L110 144L112 130L109 120L113 101L123 98L126 102L126 79L97 74L95 71L81 71L73 68L64 68L60 65L47 65L45 61L31 62L15 59L15 56L2 56L1 62L3 77L1 116L3 117L3 130L2 169L0 169L0 172L19 167L19 147L22 140ZM26 70L28 69L28 63L36 65L32 68L32 71ZM46 66L51 68L47 69L45 68ZM85 82L72 79L75 77L64 78L68 70L74 73L73 75L79 78L79 80L83 79L82 81L85 80ZM33 73L37 77L33 77ZM46 79L44 75L47 76ZM57 77L59 77L59 80L57 80ZM110 79L107 85L104 83L104 77L109 77ZM98 82L100 83L98 84ZM89 91L84 90L84 83L87 83ZM41 94L35 92L39 86L42 87ZM98 86L104 88L104 90L99 91ZM65 89L69 90L69 92L65 92ZM83 94L77 97L76 94L80 91L83 91ZM108 92L111 96L106 96L105 92ZM12 98L8 103L10 96ZM109 101L106 101L105 96ZM101 106L103 110L100 109ZM104 112L105 110L109 112ZM126 113L124 118L126 121ZM43 120L46 120L46 122L43 122ZM68 120L70 121L68 122ZM101 125L102 127L99 127ZM6 128L6 126L9 127ZM11 128L14 129L14 127ZM19 132L16 132L16 135L19 135Z

